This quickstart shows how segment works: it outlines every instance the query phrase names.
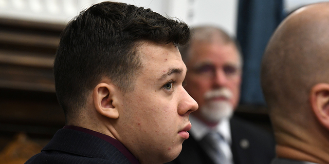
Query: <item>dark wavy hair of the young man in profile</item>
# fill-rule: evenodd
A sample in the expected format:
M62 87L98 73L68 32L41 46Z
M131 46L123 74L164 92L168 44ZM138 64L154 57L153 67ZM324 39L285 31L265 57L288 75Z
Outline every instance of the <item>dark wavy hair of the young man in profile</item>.
M82 11L61 34L54 60L58 101L67 114L77 114L103 77L122 92L134 89L142 67L138 43L185 45L188 25L124 3L102 2Z

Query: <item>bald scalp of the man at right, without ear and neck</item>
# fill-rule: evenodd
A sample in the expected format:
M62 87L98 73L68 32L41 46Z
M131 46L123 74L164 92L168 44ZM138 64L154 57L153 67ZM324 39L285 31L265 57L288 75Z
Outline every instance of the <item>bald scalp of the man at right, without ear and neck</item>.
M262 61L269 108L308 105L312 86L329 82L329 3L289 15L270 39Z

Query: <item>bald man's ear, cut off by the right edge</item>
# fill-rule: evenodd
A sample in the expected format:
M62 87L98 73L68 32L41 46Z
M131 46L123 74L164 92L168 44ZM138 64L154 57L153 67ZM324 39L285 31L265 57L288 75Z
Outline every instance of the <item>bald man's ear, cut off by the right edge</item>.
M312 88L310 104L320 123L329 130L329 84L320 83Z

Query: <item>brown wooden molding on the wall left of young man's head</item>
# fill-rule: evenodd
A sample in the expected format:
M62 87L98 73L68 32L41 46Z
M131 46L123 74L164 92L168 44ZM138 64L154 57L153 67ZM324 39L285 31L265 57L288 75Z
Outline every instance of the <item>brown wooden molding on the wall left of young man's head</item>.
M52 66L64 27L0 18L0 89L54 93Z

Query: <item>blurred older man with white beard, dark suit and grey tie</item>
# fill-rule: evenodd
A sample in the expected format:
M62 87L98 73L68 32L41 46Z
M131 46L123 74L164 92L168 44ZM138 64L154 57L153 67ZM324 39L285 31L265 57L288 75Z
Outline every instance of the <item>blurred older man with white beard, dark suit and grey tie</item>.
M232 117L242 75L242 57L234 40L212 26L195 27L191 33L190 43L180 52L189 69L185 88L199 109L191 114L191 136L172 163L270 163L275 157L272 137Z

